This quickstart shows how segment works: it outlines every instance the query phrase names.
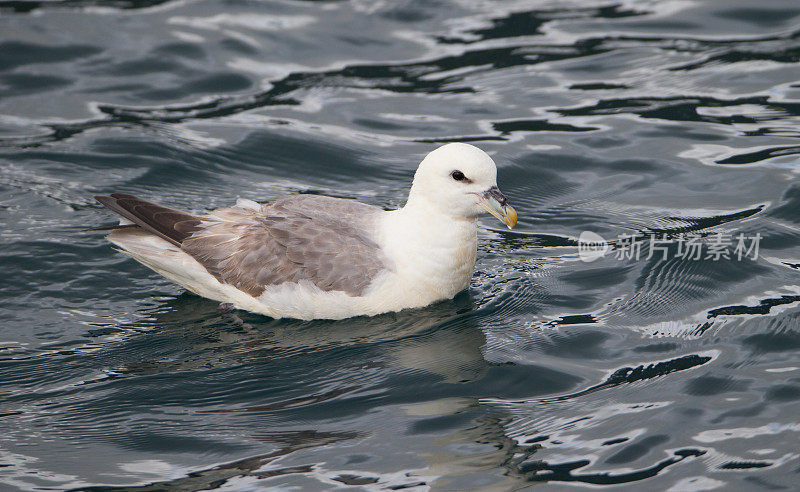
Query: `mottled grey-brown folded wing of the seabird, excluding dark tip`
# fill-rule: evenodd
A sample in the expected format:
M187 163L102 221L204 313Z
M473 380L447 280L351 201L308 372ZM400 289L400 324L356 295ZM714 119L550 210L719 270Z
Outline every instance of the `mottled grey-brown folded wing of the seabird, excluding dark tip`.
M387 268L373 233L380 213L353 200L291 196L260 210L217 210L181 248L220 282L252 296L304 280L358 296Z

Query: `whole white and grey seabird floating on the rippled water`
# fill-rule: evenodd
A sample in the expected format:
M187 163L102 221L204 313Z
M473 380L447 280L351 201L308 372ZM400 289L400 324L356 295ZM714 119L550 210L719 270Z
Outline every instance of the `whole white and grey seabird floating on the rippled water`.
M124 193L95 198L122 216L109 241L197 295L273 318L342 319L466 289L477 216L517 223L496 179L485 152L451 143L423 159L398 210L291 195L194 215Z

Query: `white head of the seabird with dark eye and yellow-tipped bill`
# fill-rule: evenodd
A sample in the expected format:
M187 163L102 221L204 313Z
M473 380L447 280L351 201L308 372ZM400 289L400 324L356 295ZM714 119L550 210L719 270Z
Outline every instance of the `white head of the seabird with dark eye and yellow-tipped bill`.
M422 160L408 194L408 206L435 209L456 219L474 219L489 212L509 229L517 212L497 187L497 166L481 149L449 143Z

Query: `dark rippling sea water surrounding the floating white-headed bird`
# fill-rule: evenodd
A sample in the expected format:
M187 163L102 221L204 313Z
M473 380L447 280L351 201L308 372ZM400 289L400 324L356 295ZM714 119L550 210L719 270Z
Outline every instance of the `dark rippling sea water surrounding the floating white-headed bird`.
M798 61L793 0L0 1L0 489L797 490ZM520 223L425 309L237 321L76 232L451 141Z

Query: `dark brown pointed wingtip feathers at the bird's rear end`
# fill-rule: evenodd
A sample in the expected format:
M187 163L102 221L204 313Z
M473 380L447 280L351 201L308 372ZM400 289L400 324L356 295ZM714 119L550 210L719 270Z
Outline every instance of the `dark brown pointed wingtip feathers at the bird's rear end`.
M184 239L199 228L200 219L180 210L151 203L126 193L94 197L109 209L130 220L136 226L180 246ZM114 229L125 226L115 226ZM104 230L100 228L99 230Z

